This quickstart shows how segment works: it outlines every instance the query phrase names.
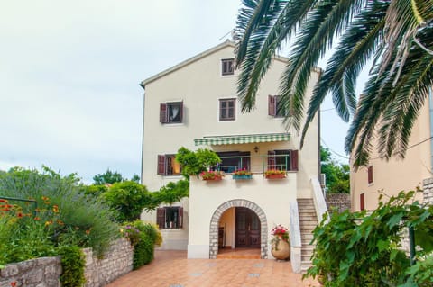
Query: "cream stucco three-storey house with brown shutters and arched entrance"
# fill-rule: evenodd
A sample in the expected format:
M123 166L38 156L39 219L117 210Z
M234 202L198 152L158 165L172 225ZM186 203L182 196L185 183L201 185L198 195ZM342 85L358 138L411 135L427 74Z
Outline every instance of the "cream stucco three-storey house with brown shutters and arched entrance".
M223 159L218 168L226 172L217 182L191 176L189 199L143 213L142 219L159 224L162 248L188 250L189 258L215 258L220 247L258 248L262 258L271 258L270 233L281 224L290 228L292 265L299 271L302 244L310 238L301 237L298 201L311 199L319 220L326 210L318 183L318 118L299 149L299 134L282 126L278 102L286 58L274 58L255 110L240 112L234 49L227 40L141 83L143 184L158 190L179 180L174 155L182 146L216 151ZM312 73L309 93L318 76L319 71ZM253 178L233 179L237 168L251 170ZM287 170L287 176L266 179L267 169Z

